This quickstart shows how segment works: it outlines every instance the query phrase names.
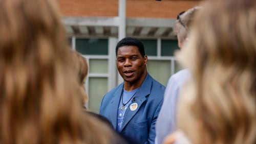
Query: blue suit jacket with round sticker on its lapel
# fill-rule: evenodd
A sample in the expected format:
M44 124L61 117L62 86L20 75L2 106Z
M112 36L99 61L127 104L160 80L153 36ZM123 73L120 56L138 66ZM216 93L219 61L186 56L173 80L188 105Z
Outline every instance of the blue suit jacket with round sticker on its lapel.
M117 111L123 83L106 93L102 99L99 113L108 118L117 129ZM125 112L121 134L143 143L155 142L155 124L162 106L165 87L147 74L138 92L134 95L138 107L135 111ZM131 104L132 104L131 103Z

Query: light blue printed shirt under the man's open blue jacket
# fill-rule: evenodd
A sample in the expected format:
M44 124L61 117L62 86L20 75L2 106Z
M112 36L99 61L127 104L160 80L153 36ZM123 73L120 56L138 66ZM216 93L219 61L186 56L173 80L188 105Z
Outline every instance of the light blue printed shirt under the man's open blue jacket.
M136 89L131 90L131 91L126 91L125 89L123 89L123 95L122 95L123 103L124 104L127 103L127 104L125 105L124 109L121 110L121 107L122 107L123 104L122 104L122 98L120 99L119 106L118 106L118 113L117 113L117 131L119 131L119 132L121 131L121 128L122 128L123 119L124 119L124 116L125 116L126 109L129 108L129 105L133 101L132 97L134 97L135 93L138 90L139 90L139 88L136 88Z

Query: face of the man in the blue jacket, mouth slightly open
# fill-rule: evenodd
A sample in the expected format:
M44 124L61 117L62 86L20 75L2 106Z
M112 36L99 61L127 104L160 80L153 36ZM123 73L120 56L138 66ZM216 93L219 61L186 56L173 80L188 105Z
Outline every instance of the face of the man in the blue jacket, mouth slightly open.
M147 56L141 56L137 46L122 46L117 51L116 65L125 82L134 83L143 79L146 72Z

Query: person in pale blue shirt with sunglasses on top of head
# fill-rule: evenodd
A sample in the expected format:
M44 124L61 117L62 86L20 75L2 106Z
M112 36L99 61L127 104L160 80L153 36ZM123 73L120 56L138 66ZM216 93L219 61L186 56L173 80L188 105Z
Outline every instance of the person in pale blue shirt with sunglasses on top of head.
M175 22L174 32L177 34L178 45L183 49L184 43L188 41L189 28L193 22L194 15L200 7L194 7L178 14ZM182 69L169 78L164 92L164 101L156 123L155 143L161 144L169 133L176 130L176 108L182 85L188 80L190 73L188 69Z

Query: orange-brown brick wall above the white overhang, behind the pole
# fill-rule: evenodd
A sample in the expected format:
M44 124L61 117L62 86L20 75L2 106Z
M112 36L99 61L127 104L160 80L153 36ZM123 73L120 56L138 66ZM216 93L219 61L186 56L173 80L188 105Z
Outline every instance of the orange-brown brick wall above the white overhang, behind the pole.
M176 18L181 11L200 1L126 0L127 17ZM58 0L63 16L118 16L118 0Z

